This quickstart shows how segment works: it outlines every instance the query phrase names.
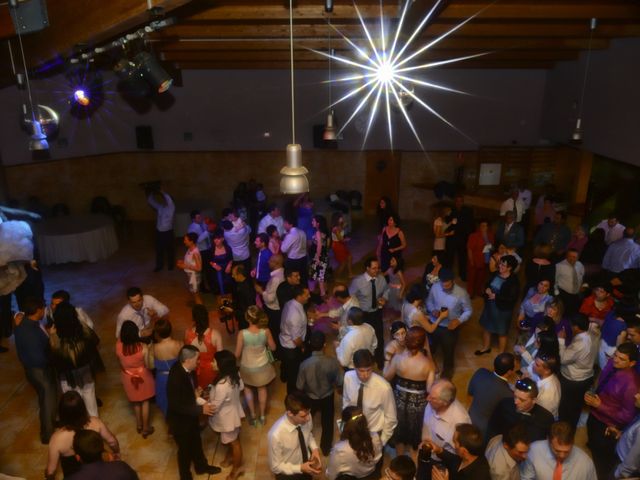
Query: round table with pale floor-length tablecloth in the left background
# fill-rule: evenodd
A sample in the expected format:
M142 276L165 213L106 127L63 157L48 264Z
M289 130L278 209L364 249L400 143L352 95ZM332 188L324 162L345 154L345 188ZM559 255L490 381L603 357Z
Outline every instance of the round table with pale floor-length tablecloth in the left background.
M118 250L113 220L106 215L71 215L36 225L40 263L97 262Z

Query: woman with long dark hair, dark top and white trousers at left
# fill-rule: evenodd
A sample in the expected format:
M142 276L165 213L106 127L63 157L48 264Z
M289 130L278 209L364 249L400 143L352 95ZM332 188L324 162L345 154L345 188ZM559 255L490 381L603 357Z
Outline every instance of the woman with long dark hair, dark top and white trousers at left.
M97 356L99 339L93 330L80 322L75 307L67 302L56 307L53 319L49 343L60 387L63 392L77 391L89 415L97 417L96 386L91 365Z

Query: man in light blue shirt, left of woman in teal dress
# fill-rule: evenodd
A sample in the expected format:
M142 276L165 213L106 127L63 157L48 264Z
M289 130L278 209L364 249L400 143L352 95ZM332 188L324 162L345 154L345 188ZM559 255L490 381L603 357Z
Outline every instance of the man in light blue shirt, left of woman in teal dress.
M469 320L473 309L467 291L453 281L453 271L448 268L440 270L440 282L435 283L427 297L427 314L432 322L441 318L440 324L432 334L432 354L442 347L444 365L442 376L451 379L453 376L453 359L458 342L458 327Z

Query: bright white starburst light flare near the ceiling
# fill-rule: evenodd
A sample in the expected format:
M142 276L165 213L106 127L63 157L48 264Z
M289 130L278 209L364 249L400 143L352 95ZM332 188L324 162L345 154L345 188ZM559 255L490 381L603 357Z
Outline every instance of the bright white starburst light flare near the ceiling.
M322 52L320 50L309 49L323 57L330 58L335 60L336 62L340 62L343 65L348 67L352 67L355 69L359 69L359 73L353 73L348 76L342 78L331 79L328 82L331 83L347 83L347 84L355 84L355 86L348 91L345 95L335 100L331 105L327 107L328 110L334 108L334 106L348 100L352 97L356 97L361 95L361 99L357 102L357 105L351 115L347 118L346 122L342 125L340 130L338 131L338 135L342 133L342 131L349 125L365 107L369 107L368 112L368 120L366 124L366 131L364 133L364 139L362 142L362 146L364 147L367 138L369 137L369 132L371 127L375 123L375 120L378 116L378 110L382 108L384 112L386 112L386 123L387 130L389 132L389 143L391 148L393 149L393 128L392 128L392 107L395 109L399 109L404 117L404 120L409 125L413 135L415 136L420 148L424 151L424 145L422 140L420 139L420 135L411 121L411 117L407 111L407 108L403 101L401 100L401 96L408 97L412 101L416 102L422 108L427 110L429 113L434 115L436 118L444 122L446 125L454 129L460 135L464 136L468 140L473 143L476 143L473 139L471 139L468 135L462 132L459 128L453 125L449 120L447 120L443 115L438 113L432 106L430 106L425 100L421 99L416 93L414 88L408 88L408 85L425 87L429 89L434 89L443 92L449 93L457 93L462 95L470 95L467 92L463 92L461 90L456 90L454 88L447 87L446 85L440 85L434 82L427 81L425 79L419 78L415 76L415 73L422 72L424 70L436 68L442 65L449 65L456 62L461 62L464 60L469 60L473 58L482 57L484 55L488 55L493 52L482 52L473 55L465 55L461 57L450 58L446 60L439 61L431 61L426 63L413 64L412 61L415 61L420 55L428 51L430 48L437 45L440 41L447 38L449 35L454 33L456 30L460 29L464 25L466 25L469 21L480 15L486 8L490 5L487 5L483 9L476 12L471 17L462 21L461 23L453 26L451 29L447 30L440 36L435 39L429 41L425 45L412 50L410 47L412 46L414 40L419 36L422 30L425 28L427 23L433 18L434 13L437 11L438 7L441 5L442 0L437 0L431 9L426 13L426 15L419 22L417 27L413 30L412 34L409 38L402 43L401 34L402 27L404 25L404 21L409 11L409 6L412 4L411 0L406 0L404 6L402 7L402 13L400 15L400 19L398 20L398 24L395 28L395 32L392 35L392 41L388 42L387 34L390 32L386 31L385 25L387 21L384 17L383 13L383 5L382 0L380 0L380 26L379 26L379 37L374 38L370 28L367 26L364 21L360 10L358 9L357 4L354 1L354 8L358 18L360 20L360 25L362 26L362 30L364 33L364 37L366 38L367 47L357 45L353 40L346 37L340 30L338 30L333 23L329 23L329 26L333 28L338 35L340 35L349 47L352 49L354 55L352 58L348 58L344 55L331 54L330 52ZM390 43L390 46L389 46Z

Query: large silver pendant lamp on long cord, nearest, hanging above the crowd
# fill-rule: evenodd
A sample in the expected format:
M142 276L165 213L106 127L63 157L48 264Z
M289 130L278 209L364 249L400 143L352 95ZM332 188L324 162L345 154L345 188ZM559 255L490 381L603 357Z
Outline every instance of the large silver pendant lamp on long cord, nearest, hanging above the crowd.
M296 143L296 103L293 77L293 0L289 0L289 54L291 61L291 143L287 145L287 165L280 173L280 191L285 194L309 191L309 171L302 166L302 147Z

